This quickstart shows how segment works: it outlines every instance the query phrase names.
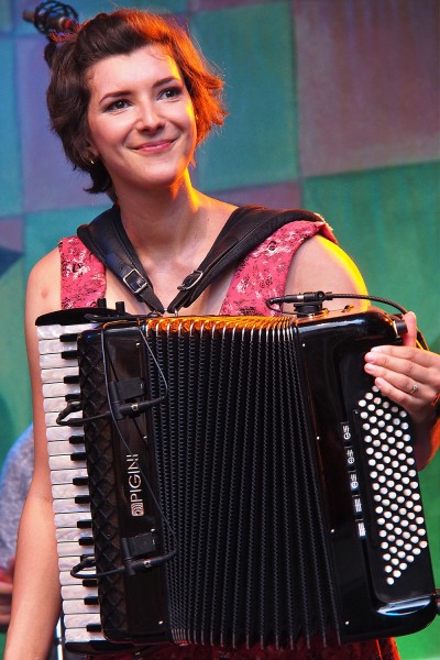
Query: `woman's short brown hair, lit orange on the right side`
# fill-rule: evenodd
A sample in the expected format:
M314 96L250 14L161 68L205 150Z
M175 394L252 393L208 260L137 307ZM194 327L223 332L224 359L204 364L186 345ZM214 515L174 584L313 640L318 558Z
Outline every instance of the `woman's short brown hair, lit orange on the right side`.
M112 183L103 163L90 161L87 70L106 57L128 55L148 44L161 45L180 70L195 109L197 143L224 121L220 75L172 16L131 9L98 14L59 37L47 89L52 127L74 167L90 174L89 193L105 193Z

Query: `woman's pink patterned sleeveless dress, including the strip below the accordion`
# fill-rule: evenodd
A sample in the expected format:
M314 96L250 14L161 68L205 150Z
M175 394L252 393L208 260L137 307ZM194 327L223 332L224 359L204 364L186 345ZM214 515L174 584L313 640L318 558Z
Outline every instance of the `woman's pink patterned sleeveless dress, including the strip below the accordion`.
M265 300L283 296L290 262L298 248L309 238L321 234L337 242L329 226L296 221L277 229L250 252L238 265L220 315L262 315L276 312ZM95 307L106 296L106 268L77 237L63 239L58 245L62 261L62 307ZM294 292L292 292L294 293ZM310 647L300 638L295 649L268 647L233 651L208 646L164 645L147 651L150 660L398 660L394 640L369 640L339 646L336 641L322 646L312 639ZM89 657L88 660L131 660L131 653Z

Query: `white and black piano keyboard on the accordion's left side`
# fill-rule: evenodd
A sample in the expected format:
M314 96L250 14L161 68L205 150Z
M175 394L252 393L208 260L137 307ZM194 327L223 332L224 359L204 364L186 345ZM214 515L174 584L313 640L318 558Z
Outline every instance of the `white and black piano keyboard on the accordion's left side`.
M78 333L94 324L38 327L52 492L63 595L66 644L105 642L101 632L98 587L95 580L78 580L70 570L94 553L90 498L81 426L59 426L59 413L78 399ZM73 418L80 417L73 413Z

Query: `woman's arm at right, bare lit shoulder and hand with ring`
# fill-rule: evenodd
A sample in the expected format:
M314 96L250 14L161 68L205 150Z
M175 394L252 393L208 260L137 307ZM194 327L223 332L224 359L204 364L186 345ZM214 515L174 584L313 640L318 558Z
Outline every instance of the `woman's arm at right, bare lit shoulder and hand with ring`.
M314 237L298 250L287 279L287 293L324 290L366 294L362 276L352 260L338 245ZM343 305L365 308L367 302L336 299L326 307ZM377 387L410 415L415 432L416 462L421 470L440 443L440 422L433 404L440 393L440 355L416 348L416 317L405 316L408 328L404 345L376 346L365 356L365 371L375 377ZM416 387L415 387L416 385Z

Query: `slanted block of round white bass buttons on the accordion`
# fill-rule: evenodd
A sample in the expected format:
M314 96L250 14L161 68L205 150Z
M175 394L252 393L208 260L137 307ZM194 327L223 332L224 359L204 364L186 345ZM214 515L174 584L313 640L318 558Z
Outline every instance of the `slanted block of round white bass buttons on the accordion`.
M408 415L376 386L359 402L387 583L428 546Z

